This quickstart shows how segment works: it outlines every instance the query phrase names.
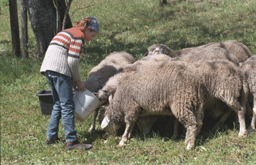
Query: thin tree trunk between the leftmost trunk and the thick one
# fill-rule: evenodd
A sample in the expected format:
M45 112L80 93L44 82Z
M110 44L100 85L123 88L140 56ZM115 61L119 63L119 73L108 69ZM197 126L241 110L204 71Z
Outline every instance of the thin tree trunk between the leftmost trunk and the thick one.
M20 0L22 58L28 58L28 15L26 0Z

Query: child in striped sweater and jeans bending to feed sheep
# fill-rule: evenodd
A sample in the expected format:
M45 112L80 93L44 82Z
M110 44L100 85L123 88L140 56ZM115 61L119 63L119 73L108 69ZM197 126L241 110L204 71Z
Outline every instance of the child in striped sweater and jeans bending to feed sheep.
M75 130L73 91L84 91L83 81L79 74L79 56L84 43L99 35L100 26L95 17L79 20L75 28L65 29L52 39L45 53L40 73L44 74L52 91L55 102L47 129L44 145L60 141L58 126L62 117L65 130L66 148L88 150L92 145L80 143Z

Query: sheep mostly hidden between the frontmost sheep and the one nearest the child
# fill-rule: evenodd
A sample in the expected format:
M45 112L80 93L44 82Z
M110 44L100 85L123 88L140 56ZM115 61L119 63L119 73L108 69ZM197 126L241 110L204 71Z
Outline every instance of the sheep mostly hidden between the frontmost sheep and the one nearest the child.
M148 67L150 65L153 65L154 63L158 63L167 59L170 59L170 57L165 54L159 54L159 56L147 56L139 59L135 63L126 65L124 68L119 70L117 74L110 77L106 84L103 86L103 88L99 90L99 93L95 93L95 95L97 96L97 98L99 98L101 104L106 104L108 103L108 101L111 102L116 88L119 84L119 81L120 79L122 79L122 77L127 74L132 74L133 72L136 72L136 70L140 70L141 67ZM100 123L102 122L102 120L103 118L99 117ZM157 116L141 117L137 122L138 129L141 133L148 134L153 123L156 122L156 120ZM108 134L113 134L113 132L115 132L120 127L121 126L115 127L114 131L109 130L109 128L105 128L104 130ZM176 134L174 134L174 136L177 137Z

